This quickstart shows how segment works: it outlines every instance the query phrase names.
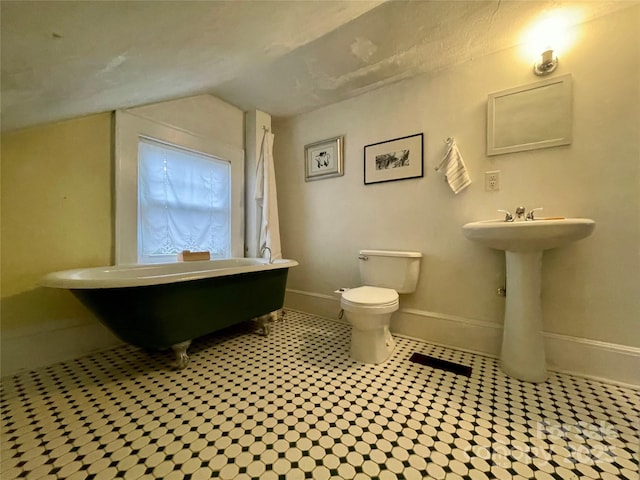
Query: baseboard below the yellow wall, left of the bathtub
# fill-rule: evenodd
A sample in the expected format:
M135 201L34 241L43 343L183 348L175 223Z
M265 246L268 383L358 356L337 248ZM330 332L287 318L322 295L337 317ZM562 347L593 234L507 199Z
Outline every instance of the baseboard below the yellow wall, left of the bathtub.
M3 334L0 348L2 377L71 360L123 343L98 322L62 325L62 328L47 325L39 332Z

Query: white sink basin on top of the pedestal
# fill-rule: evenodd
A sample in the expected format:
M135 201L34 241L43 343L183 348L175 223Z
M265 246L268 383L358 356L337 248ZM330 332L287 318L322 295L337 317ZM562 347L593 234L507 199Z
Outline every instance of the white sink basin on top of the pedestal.
M464 235L485 247L510 252L536 252L567 245L588 237L596 222L588 218L505 222L484 220L467 223Z

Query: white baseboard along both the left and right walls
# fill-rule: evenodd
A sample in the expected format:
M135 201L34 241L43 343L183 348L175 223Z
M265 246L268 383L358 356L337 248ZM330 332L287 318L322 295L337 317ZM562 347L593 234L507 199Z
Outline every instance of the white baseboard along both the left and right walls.
M285 307L333 321L342 321L337 296L288 289ZM100 323L64 325L42 331L3 335L1 375L52 365L122 344ZM484 355L497 356L502 325L424 310L401 308L393 316L391 330L430 343ZM550 370L640 386L640 348L584 338L546 333Z

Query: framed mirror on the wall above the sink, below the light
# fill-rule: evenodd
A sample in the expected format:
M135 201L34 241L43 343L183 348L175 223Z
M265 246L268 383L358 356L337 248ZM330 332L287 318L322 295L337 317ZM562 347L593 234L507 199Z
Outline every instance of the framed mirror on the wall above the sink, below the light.
M571 75L489 94L487 155L571 144Z

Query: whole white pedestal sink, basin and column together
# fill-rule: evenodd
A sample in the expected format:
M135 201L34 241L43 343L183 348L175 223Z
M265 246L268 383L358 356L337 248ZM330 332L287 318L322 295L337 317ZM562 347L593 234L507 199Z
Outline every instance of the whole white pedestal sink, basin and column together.
M589 236L595 225L588 218L564 218L485 220L462 227L470 240L505 251L507 298L500 363L507 375L529 382L546 380L540 304L542 252Z

